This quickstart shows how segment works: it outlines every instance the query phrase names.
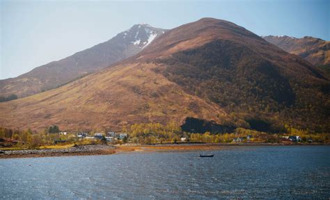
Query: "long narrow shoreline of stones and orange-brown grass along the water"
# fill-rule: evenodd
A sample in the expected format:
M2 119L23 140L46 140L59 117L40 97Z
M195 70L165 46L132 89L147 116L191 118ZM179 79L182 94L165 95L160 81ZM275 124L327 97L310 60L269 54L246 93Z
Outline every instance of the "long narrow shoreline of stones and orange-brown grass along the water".
M283 143L238 143L238 144L214 144L214 143L180 143L180 144L85 144L76 145L68 149L26 149L0 151L0 159L6 158L38 158L54 156L97 156L111 155L114 153L129 152L156 152L156 151L214 151L224 147L244 146L315 146L329 144L283 144Z

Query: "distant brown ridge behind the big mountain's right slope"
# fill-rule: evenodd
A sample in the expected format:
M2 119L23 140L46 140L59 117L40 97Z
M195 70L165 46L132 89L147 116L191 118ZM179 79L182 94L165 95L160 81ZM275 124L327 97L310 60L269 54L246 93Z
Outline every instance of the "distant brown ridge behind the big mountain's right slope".
M330 42L320 38L304 37L293 38L289 36L268 35L264 38L267 42L275 44L284 51L293 53L308 60L316 66L330 66Z

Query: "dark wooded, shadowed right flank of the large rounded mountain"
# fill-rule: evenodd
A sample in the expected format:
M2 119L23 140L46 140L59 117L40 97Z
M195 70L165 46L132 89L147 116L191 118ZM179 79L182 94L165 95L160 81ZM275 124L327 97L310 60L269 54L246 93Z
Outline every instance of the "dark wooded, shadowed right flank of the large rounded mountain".
M314 83L298 72L296 81L279 65L237 42L217 40L157 63L166 64L158 72L186 92L231 113L228 123L234 126L269 133L283 131L284 124L319 133L330 130L329 81ZM311 71L326 80L317 70Z

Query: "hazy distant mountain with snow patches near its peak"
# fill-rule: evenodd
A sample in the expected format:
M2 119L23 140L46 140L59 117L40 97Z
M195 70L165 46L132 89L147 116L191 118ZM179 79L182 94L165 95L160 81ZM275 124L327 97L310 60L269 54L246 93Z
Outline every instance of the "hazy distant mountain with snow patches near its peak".
M36 67L16 78L0 80L0 97L8 97L10 94L26 97L97 72L138 53L164 31L148 24L136 24L107 42Z

